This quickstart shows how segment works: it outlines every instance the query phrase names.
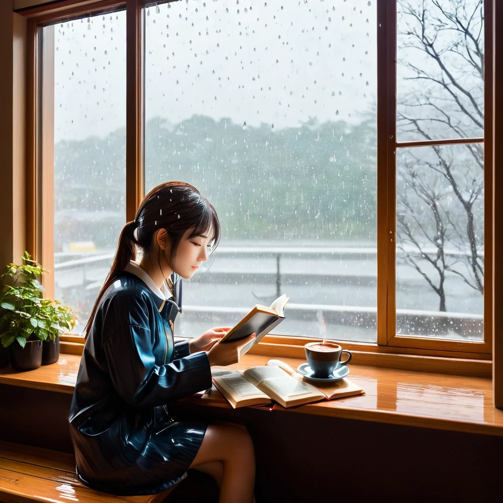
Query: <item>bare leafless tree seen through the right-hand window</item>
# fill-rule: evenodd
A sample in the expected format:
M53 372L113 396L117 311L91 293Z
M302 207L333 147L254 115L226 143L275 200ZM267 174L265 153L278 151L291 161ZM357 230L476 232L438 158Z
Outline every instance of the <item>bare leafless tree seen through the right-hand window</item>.
M398 4L399 141L482 137L482 0ZM483 169L481 143L397 152L397 247L441 311L447 273L483 294Z

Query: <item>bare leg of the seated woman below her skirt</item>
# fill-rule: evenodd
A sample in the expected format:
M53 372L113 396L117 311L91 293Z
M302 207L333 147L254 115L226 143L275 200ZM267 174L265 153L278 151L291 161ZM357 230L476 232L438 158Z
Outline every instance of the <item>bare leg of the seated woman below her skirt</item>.
M191 468L207 468L215 461L223 466L219 503L254 501L255 453L248 433L233 426L208 426Z

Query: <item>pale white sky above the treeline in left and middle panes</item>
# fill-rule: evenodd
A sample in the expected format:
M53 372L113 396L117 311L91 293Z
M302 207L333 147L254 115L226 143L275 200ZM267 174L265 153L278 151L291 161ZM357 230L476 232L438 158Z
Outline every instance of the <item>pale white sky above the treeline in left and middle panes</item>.
M361 120L376 98L376 1L185 0L145 12L145 116L248 126ZM125 13L55 26L55 141L126 123ZM200 33L200 34L199 34Z

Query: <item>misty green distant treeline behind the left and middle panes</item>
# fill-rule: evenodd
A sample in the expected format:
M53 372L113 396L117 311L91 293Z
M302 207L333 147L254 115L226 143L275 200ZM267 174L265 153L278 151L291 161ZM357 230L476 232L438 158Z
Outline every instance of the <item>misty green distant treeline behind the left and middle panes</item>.
M55 145L56 250L117 242L125 218L125 130ZM376 239L375 121L275 131L193 116L145 125L145 187L193 184L215 206L223 238Z

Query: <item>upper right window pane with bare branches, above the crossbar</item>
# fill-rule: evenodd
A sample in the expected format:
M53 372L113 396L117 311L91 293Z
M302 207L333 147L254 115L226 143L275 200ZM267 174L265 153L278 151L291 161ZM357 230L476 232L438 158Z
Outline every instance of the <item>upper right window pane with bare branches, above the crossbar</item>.
M482 137L482 0L398 0L397 10L397 140Z

